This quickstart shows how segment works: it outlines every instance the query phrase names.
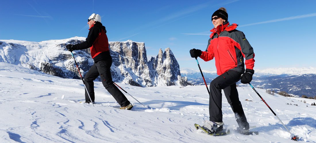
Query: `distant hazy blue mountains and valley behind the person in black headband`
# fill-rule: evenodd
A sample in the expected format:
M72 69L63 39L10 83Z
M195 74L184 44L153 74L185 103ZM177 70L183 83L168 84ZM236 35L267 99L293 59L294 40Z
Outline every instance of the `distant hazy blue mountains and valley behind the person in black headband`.
M255 70L252 85L275 92L285 91L296 96L316 96L316 70L315 68L279 68ZM204 85L200 71L197 69L182 69L181 75L188 78L194 85ZM202 70L205 81L210 83L218 75L216 71ZM249 86L237 83L239 86Z

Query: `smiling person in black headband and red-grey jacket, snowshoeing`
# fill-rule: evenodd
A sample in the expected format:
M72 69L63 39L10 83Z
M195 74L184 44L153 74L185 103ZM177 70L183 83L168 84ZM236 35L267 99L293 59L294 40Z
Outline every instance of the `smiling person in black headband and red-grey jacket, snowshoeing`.
M219 75L210 83L210 121L204 122L204 127L212 132L223 129L223 90L235 113L239 125L237 131L244 134L249 132L249 124L239 101L236 83L240 79L241 83L244 84L248 84L252 80L255 54L244 33L236 30L238 25L229 25L227 20L228 14L225 8L216 10L212 15L214 28L210 30L212 34L206 50L191 49L190 54L192 58L200 57L204 61L215 58L217 74Z

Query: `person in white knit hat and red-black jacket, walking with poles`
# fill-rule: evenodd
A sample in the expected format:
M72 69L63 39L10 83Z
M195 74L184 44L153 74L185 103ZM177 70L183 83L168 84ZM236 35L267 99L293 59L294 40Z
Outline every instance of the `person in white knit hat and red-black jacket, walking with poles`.
M92 102L94 102L94 83L98 76L102 80L103 86L120 104L122 109L131 109L133 106L127 100L125 95L113 84L111 76L112 57L110 55L109 43L106 36L105 27L101 23L99 14L92 14L88 18L89 33L86 41L76 44L67 45L68 51L82 50L90 48L91 57L94 64L84 76L84 82L87 86ZM86 103L90 103L87 91L85 91Z

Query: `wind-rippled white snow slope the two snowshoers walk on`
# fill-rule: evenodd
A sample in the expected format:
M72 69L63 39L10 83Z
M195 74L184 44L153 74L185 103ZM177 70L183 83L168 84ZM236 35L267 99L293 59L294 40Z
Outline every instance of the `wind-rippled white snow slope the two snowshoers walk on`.
M114 108L118 104L100 82L94 84L95 107L82 104L82 80L0 63L0 142L293 142L250 87L238 90L247 120L250 126L256 126L251 130L259 131L259 135L231 132L212 137L193 126L209 119L209 96L204 85L118 85L149 108L129 95L126 97L135 104L132 111ZM316 100L257 91L293 134L301 141L315 142L316 106L310 104ZM224 127L233 131L237 123L225 96L222 110Z

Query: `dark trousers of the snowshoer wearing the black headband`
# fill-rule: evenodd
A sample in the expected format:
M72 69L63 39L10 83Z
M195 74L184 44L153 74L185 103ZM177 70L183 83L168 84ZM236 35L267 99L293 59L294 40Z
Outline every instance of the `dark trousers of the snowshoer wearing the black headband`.
M240 80L240 72L228 70L216 77L210 84L210 121L222 122L222 90L225 93L230 107L235 114L236 121L241 128L249 129L244 110L241 106L236 88L236 82Z

